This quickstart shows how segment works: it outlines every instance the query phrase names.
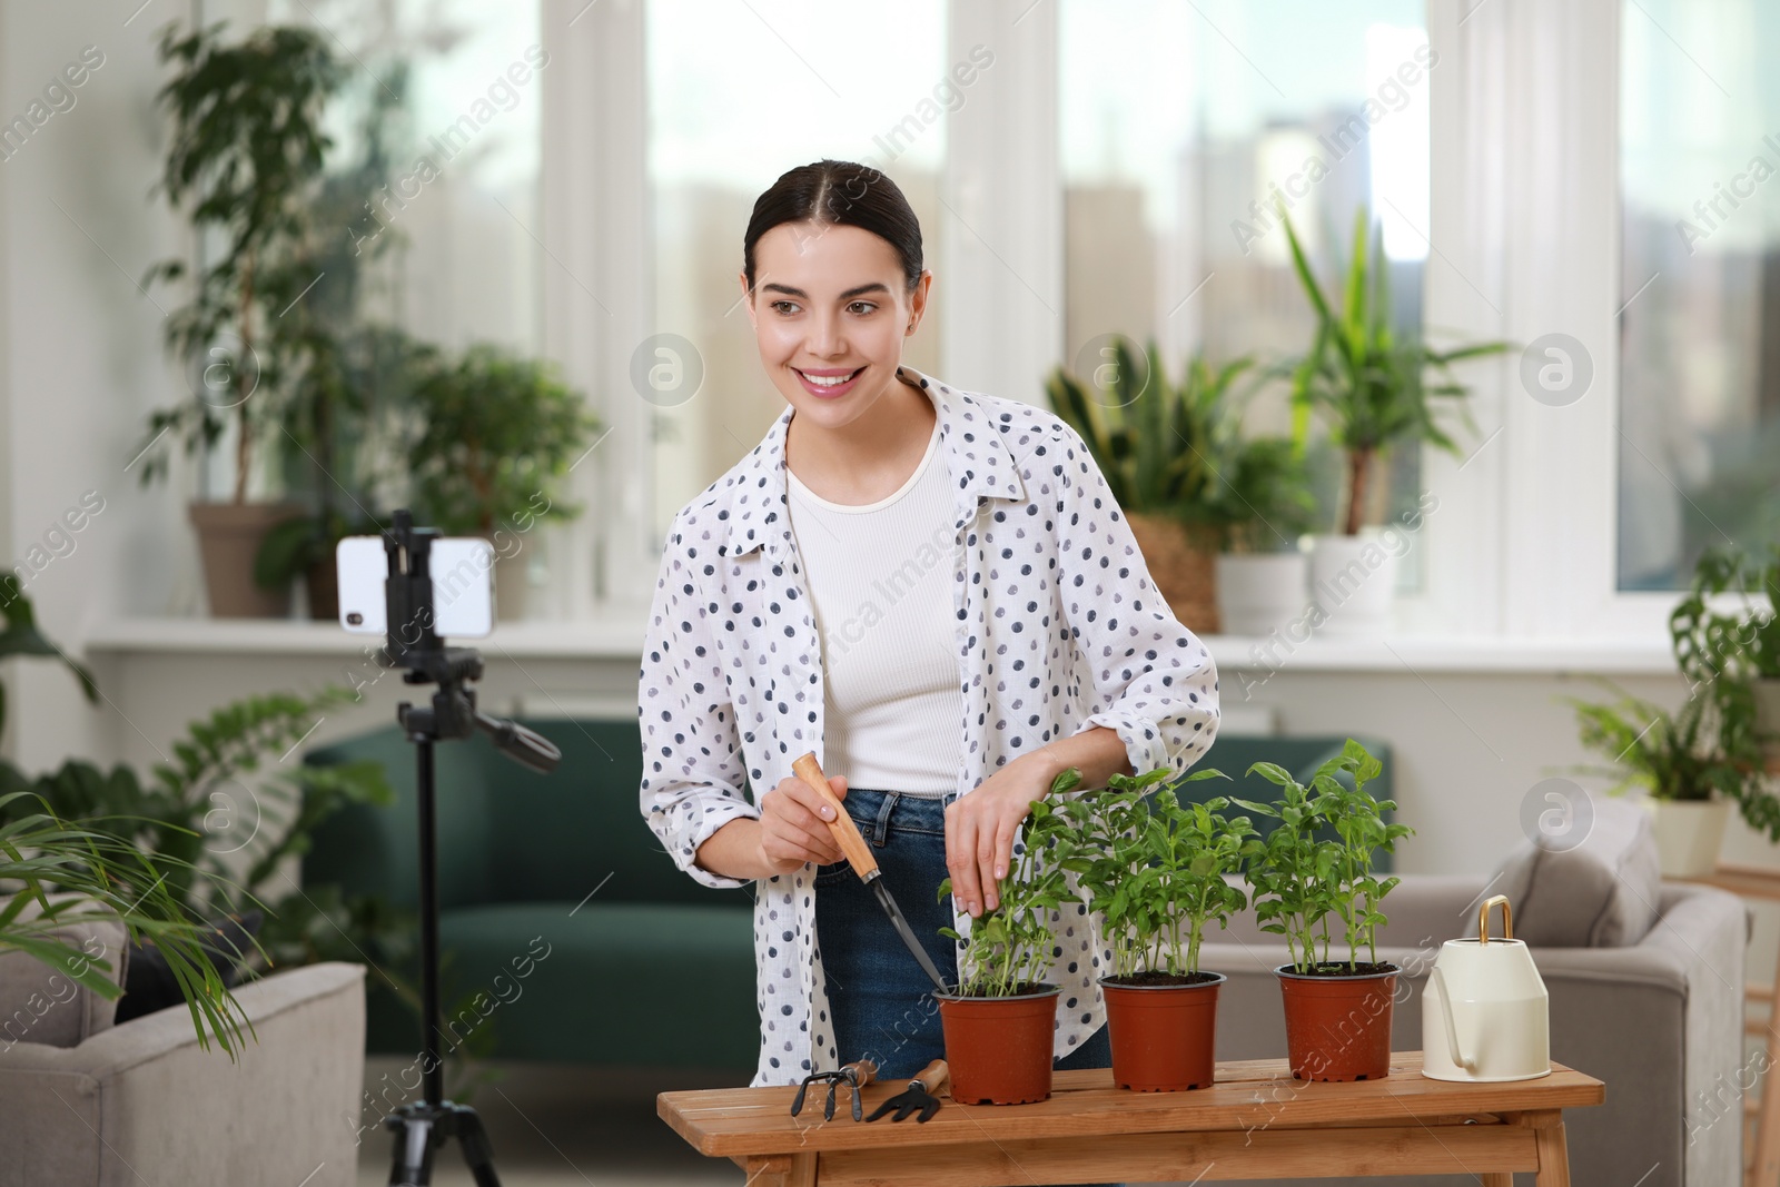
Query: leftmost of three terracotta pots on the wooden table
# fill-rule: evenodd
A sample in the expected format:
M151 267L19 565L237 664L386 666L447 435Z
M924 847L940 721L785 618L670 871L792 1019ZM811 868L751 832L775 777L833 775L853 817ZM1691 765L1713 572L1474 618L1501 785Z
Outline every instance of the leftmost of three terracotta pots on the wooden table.
M940 998L945 1066L952 1100L967 1105L1024 1105L1050 1096L1052 1043L1059 986L1020 997Z

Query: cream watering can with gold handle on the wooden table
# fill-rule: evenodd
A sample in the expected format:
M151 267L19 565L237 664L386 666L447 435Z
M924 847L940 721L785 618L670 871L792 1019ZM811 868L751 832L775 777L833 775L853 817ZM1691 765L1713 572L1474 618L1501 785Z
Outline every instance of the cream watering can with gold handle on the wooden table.
M1502 938L1490 911L1502 908ZM1550 998L1508 895L1485 900L1477 938L1447 940L1422 993L1422 1075L1433 1080L1534 1080L1550 1075Z

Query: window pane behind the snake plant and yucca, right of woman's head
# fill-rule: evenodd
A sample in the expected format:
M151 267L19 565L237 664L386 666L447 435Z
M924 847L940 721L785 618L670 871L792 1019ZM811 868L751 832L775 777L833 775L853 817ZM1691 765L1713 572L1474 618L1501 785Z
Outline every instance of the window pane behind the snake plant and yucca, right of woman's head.
M1273 214L1280 198L1324 288L1367 206L1403 329L1420 326L1420 0L1064 0L1059 20L1068 367L1089 374L1107 335L1153 336L1169 375L1193 351L1274 361L1308 349L1315 324ZM1251 431L1287 427L1283 392L1251 408ZM1397 450L1396 504L1415 504L1417 475L1417 450ZM1333 523L1333 468L1323 477ZM1401 569L1413 584L1413 566Z

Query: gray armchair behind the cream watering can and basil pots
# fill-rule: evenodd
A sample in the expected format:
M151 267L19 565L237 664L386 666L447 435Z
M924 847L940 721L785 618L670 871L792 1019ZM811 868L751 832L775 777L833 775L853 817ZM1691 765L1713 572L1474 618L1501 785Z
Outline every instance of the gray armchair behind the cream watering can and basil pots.
M1390 925L1380 933L1378 957L1408 970L1408 989L1399 986L1392 1018L1392 1050L1420 1050L1428 968L1442 941L1476 934L1488 881L1410 874L1385 900ZM1744 1062L1748 913L1736 895L1679 883L1663 883L1654 906L1655 924L1627 947L1533 945L1550 993L1552 1059L1607 1086L1604 1105L1565 1114L1572 1182L1741 1183L1737 1084ZM1285 945L1258 931L1251 913L1234 918L1230 931L1207 936L1200 966L1230 977L1218 998L1219 1059L1285 1055L1285 1016L1273 975L1285 959ZM1433 1187L1458 1180L1390 1182Z

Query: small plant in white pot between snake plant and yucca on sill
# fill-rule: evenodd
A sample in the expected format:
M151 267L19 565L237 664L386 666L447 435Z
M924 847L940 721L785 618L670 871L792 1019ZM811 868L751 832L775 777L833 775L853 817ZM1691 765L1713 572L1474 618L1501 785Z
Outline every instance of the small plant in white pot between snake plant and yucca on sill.
M1308 562L1298 537L1310 530L1315 498L1289 438L1235 438L1221 456L1218 621L1228 635L1267 635L1305 609Z

